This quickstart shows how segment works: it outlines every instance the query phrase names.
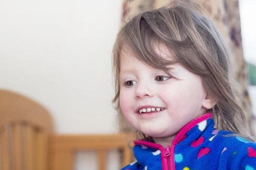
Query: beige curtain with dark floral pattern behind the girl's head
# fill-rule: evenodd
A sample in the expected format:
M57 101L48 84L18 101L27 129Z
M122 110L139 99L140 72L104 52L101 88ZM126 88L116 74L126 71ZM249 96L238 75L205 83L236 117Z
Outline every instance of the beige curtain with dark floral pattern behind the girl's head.
M218 27L224 41L227 43L233 57L236 79L239 87L235 89L236 98L247 114L248 119L253 120L250 99L247 92L246 63L244 61L241 26L239 14L239 0L196 0L207 10L209 17ZM122 11L122 23L129 20L134 14L152 8L159 8L172 2L172 0L124 0ZM253 123L253 122L250 122ZM252 126L250 127L251 132ZM121 131L131 129L121 122Z

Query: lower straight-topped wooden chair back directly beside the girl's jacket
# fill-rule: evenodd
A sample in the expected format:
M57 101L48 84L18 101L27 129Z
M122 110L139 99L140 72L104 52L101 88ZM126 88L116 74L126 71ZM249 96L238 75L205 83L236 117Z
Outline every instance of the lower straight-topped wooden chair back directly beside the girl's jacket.
M78 151L95 151L98 169L106 170L107 152L121 151L120 169L133 160L132 149L128 147L127 134L109 135L55 135L51 139L52 170L73 170L74 154Z

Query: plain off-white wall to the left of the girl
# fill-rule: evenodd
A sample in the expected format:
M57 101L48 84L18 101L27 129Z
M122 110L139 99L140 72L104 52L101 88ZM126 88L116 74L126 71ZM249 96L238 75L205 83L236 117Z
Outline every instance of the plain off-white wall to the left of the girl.
M44 105L56 133L115 132L111 51L121 3L0 1L0 88ZM96 169L95 159L79 153L76 169Z

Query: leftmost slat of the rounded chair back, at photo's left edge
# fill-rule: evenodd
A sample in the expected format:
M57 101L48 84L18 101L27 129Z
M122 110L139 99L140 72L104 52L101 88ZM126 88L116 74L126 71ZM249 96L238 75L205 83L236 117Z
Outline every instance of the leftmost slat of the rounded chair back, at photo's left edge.
M3 131L0 138L1 138L1 153L2 153L1 170L10 170L10 152L9 152L6 130Z

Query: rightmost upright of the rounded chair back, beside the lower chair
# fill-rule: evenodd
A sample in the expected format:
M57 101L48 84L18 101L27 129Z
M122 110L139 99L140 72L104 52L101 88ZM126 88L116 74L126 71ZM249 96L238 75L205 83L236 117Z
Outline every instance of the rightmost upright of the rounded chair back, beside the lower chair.
M48 135L44 132L38 132L35 137L36 140L36 160L35 168L36 170L48 170L48 154L49 154L49 141Z

